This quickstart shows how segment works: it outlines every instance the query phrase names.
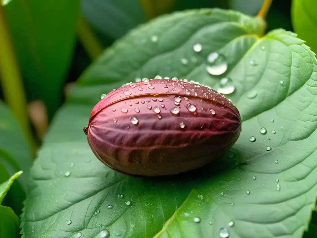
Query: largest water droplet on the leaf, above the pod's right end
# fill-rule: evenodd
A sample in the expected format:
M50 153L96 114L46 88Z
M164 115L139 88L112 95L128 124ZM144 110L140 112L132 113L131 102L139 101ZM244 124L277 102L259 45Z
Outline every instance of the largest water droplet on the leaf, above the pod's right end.
M225 57L216 52L210 53L207 57L207 61L210 63L206 67L206 70L211 75L221 75L228 69L228 64L225 61Z

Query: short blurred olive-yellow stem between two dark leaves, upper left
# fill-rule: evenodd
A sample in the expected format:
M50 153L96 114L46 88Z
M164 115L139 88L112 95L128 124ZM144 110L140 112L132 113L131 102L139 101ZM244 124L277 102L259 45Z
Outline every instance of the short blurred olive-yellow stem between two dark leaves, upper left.
M81 14L78 19L77 36L92 60L100 56L103 47Z

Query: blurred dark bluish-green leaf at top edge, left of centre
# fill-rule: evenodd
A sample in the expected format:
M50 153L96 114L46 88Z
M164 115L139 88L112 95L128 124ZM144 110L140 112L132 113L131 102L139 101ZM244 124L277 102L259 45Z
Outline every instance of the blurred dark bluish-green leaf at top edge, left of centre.
M81 10L96 30L113 39L146 21L138 0L83 0Z

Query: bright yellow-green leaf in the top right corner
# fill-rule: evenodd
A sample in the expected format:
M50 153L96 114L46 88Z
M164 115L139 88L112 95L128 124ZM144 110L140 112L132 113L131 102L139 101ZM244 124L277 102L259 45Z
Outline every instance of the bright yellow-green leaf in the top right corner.
M292 24L298 37L317 52L317 2L315 0L292 1Z

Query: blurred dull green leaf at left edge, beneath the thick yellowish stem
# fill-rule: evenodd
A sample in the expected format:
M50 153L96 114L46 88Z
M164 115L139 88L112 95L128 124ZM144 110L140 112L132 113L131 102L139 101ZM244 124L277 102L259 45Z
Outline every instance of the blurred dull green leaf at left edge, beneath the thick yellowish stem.
M10 176L19 170L25 171L18 179L25 190L33 161L32 153L19 123L2 101L0 101L0 115L0 163L4 165ZM7 176L2 178L2 175L4 173L0 173L0 183L8 179Z

